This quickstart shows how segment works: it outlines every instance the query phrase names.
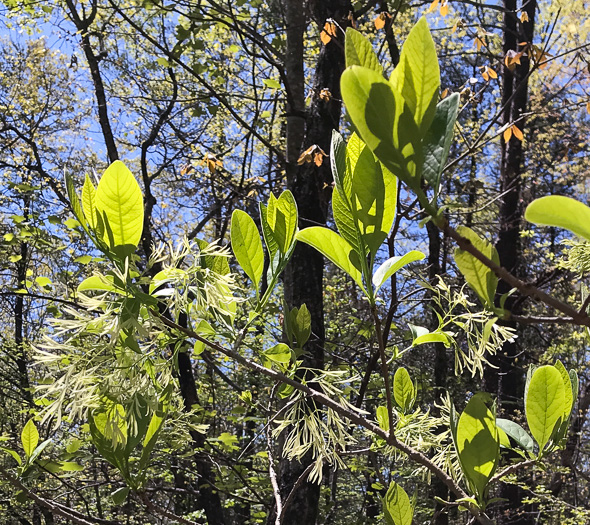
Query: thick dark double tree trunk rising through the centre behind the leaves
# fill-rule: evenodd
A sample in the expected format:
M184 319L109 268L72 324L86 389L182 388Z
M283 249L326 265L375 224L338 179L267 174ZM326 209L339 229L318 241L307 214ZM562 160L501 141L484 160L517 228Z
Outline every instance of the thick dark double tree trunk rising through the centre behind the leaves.
M323 27L327 19L333 19L345 28L352 11L349 0L316 0L307 3L314 22ZM303 70L303 32L305 10L302 1L285 1L287 24L287 53L285 70L287 78L287 185L293 192L299 209L300 228L325 224L331 197L332 174L328 159L321 166L313 163L297 165L302 151L317 145L324 152L330 151L332 130L338 129L342 103L340 101L340 76L344 70L344 35L337 35L323 45L316 64L310 107L305 108L305 77ZM327 89L330 100L322 100L319 93ZM323 256L299 243L285 272L285 299L289 308L306 304L311 314L312 336L306 345L303 367L324 366L324 305L323 305ZM310 410L313 407L310 406ZM283 501L290 494L297 480L305 472L311 457L301 462L281 460L279 463L279 488ZM305 480L297 487L284 512L284 525L313 524L318 514L320 486ZM269 522L273 522L271 515Z

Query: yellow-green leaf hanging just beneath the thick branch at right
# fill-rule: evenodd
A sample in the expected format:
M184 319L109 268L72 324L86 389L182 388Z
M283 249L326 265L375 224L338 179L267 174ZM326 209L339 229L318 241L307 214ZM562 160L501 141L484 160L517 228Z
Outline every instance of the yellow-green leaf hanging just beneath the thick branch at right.
M467 228L466 226L459 226L457 231L459 235L469 239L471 244L488 259L491 259L496 264L500 264L498 252L491 243L482 239L471 228ZM473 255L460 248L455 250L455 263L465 277L467 284L471 286L481 302L488 308L493 309L494 295L498 286L496 274Z

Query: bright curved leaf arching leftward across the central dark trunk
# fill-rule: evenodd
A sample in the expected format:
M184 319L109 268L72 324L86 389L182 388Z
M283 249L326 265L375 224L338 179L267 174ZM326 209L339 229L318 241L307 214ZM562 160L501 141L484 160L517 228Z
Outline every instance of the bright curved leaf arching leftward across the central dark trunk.
M297 240L321 252L338 268L350 275L364 292L359 257L352 246L340 235L323 226L312 226L298 232Z

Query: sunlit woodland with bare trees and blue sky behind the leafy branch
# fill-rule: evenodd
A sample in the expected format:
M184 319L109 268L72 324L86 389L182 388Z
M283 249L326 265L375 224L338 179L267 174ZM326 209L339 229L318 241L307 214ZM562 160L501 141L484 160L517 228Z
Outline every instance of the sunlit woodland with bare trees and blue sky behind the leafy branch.
M466 522L456 506L441 503L451 497L447 487L360 431L338 460L318 463L313 449L300 461L282 457L288 430L276 428L288 401L277 384L198 343L174 350L174 409L145 491L130 493L92 442L88 412L97 401L89 392L109 382L104 369L75 352L60 354L44 339L59 337L50 319L74 316L80 282L105 264L72 214L64 172L80 190L87 175L95 180L110 163L125 161L144 196L143 269L161 255L158 246L176 245L183 236L228 245L232 212L257 217L258 202L285 188L297 202L300 228L333 226L332 131L349 137L352 129L340 93L344 32L355 27L368 37L390 72L410 29L426 15L439 55L441 97L460 94L440 190L445 217L492 242L513 275L585 311L585 245L562 230L535 228L523 214L543 195L586 200L588 3L2 5L0 431L5 448L26 452L22 431L34 417L41 441L49 441L41 463L23 475L16 475L14 455L1 457L0 522L377 523L392 480L414 494L416 523ZM418 441L427 435L435 449L450 444L444 428L420 434L417 427L432 424L430 415L439 424L444 419L443 393L462 409L470 393L484 390L497 398L499 414L524 420L527 368L561 360L580 378L567 444L543 465L498 484L494 494L503 501L490 512L497 523L587 522L587 328L517 291L505 298L512 315L498 321L517 337L474 351L468 335L477 326L479 299L457 271L454 241L425 219L414 194L400 184L397 216L378 258L410 250L426 258L384 287L377 305L381 325L375 326L353 281L299 243L261 320L247 332L247 347L255 352L286 342L285 317L305 304L310 337L301 345L304 366L332 374L331 381L346 378L345 401L375 414L384 403L376 332L394 352L412 347L420 330L445 331L446 339L431 338L396 359L415 379L421 407L407 419L406 431ZM232 258L229 264L239 273ZM236 279L242 299L251 300L247 278ZM263 279L263 294L267 285ZM498 297L511 288L500 281ZM456 310L446 317L448 297ZM247 308L240 312L237 326L248 318ZM441 317L448 321L442 328ZM74 368L76 388L59 390Z

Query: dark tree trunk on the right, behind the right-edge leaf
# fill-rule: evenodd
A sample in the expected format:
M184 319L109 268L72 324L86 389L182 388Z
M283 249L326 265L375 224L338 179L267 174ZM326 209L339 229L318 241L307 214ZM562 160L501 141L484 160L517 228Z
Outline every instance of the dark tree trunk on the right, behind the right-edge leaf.
M517 19L519 11L516 0L504 1L503 52L520 50L521 42L532 42L534 36L535 0L525 1L521 9L528 14L529 21L521 23ZM515 123L521 131L525 131L524 117L528 102L528 74L530 61L527 56L521 58L521 65L512 71L504 66L502 79L502 103L504 107L503 124ZM500 265L517 277L524 277L523 247L520 240L520 224L522 223L523 192L522 173L524 170L523 144L512 136L507 142L502 138L502 159L500 166L500 192L503 195L498 217L499 234L496 249ZM498 285L498 295L507 293L510 286L504 281ZM520 303L514 295L506 301L505 307L518 314ZM510 323L508 323L510 324ZM513 323L511 326L515 326ZM517 342L506 343L492 363L497 368L488 368L485 374L485 389L497 394L502 400L502 409L510 414L517 408L517 403L524 393L524 370L522 364L515 365L515 358L520 353ZM498 523L527 524L534 522L532 508L523 508L521 501L525 493L515 485L502 485L501 497L508 502L498 515Z

